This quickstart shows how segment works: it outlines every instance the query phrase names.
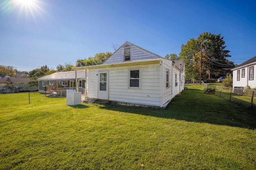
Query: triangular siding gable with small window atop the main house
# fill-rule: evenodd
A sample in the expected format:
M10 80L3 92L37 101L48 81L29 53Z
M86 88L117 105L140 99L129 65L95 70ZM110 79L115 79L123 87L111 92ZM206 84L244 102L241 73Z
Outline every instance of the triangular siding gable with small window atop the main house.
M128 41L119 47L104 63L122 63L144 59L156 59L162 58L150 51L147 51L137 45L134 45Z

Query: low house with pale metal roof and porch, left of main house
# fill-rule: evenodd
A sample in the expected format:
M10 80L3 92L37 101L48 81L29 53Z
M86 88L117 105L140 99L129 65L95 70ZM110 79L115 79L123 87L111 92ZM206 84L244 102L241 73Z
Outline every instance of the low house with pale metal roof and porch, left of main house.
M52 91L52 90L68 90L78 88L85 88L85 72L77 71L76 83L76 71L55 72L53 74L38 78L38 90L39 91Z

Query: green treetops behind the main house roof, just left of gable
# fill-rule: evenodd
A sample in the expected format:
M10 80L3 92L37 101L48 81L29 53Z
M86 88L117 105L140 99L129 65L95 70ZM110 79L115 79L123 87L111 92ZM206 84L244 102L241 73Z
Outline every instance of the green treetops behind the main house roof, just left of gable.
M80 66L102 64L111 55L112 55L111 52L97 53L94 57L89 57L88 59L79 59L79 60L77 60L76 61L76 66L80 67Z

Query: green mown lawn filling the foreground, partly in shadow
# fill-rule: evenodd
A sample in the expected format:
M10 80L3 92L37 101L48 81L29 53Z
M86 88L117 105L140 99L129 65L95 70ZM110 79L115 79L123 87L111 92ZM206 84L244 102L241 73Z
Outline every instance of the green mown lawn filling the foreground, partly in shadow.
M200 85L165 110L0 98L0 170L256 169L255 113Z

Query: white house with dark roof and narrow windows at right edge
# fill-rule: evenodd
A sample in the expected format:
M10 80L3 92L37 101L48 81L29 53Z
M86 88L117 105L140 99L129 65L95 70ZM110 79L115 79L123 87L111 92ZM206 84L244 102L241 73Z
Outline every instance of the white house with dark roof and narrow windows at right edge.
M246 86L256 88L255 69L256 56L233 68L233 88L244 88Z

